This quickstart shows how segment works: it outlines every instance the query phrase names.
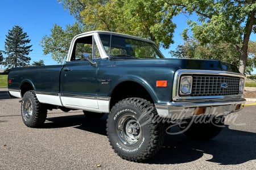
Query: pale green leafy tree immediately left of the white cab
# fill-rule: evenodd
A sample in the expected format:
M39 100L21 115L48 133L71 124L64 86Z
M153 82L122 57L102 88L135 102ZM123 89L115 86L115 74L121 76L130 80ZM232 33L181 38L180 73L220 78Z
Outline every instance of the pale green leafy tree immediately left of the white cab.
M58 63L62 63L64 58L67 57L69 45L73 37L86 30L79 23L73 25L66 25L63 29L59 25L53 25L51 35L44 36L41 41L44 54L51 53L52 58Z

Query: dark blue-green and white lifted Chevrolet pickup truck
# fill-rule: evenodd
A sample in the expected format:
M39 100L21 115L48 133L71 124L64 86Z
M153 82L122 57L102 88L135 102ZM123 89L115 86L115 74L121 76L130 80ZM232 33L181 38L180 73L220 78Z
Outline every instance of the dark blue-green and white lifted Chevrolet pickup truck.
M236 66L164 58L152 41L105 31L75 36L64 65L16 68L8 76L26 126L42 126L48 109L80 109L88 118L109 113L110 145L134 162L155 155L175 125L197 140L218 135L225 116L243 108L244 84Z

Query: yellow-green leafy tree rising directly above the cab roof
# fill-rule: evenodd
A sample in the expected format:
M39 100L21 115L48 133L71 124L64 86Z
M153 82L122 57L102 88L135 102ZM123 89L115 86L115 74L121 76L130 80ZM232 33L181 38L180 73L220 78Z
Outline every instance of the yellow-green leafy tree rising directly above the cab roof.
M169 48L173 43L176 24L171 20L179 14L179 10L170 8L162 0L83 2L84 10L80 12L80 16L84 24L94 25L94 29L144 37L164 48Z

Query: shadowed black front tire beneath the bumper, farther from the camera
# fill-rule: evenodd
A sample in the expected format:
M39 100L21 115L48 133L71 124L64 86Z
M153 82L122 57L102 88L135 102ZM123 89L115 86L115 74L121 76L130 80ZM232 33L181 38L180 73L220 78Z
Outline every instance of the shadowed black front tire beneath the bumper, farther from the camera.
M201 121L199 121L201 120ZM196 141L208 141L224 128L225 117L205 117L198 120L189 120L187 124L181 125L184 134Z

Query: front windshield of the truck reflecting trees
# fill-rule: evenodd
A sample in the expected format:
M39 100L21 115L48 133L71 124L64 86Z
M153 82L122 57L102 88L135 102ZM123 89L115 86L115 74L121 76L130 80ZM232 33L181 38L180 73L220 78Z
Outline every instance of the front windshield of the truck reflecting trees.
M147 41L105 34L100 34L100 39L109 57L164 58L155 44Z

